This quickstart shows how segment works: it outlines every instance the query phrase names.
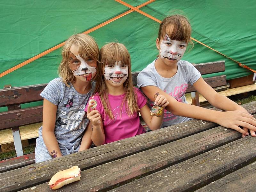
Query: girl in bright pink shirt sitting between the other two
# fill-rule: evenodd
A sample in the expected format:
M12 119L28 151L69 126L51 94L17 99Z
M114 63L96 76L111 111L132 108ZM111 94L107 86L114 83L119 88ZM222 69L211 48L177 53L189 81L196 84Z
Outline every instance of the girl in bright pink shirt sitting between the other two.
M100 61L96 94L92 98L97 106L88 103L85 108L93 143L99 146L144 133L139 112L151 130L159 129L163 114L160 117L150 116L146 98L133 87L131 59L125 46L106 44L100 49ZM164 108L169 103L165 96L157 94L155 104Z

